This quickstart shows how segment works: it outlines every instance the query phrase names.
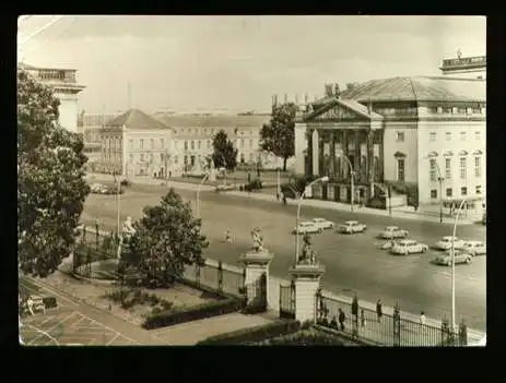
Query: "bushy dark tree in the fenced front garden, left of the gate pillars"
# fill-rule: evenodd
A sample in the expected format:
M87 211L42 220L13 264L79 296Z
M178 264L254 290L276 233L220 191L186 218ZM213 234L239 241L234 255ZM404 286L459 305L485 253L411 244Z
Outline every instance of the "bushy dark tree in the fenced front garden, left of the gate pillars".
M172 284L185 265L204 265L202 252L209 242L201 234L201 219L193 218L189 203L173 188L156 206L145 206L133 224L125 261L148 280Z

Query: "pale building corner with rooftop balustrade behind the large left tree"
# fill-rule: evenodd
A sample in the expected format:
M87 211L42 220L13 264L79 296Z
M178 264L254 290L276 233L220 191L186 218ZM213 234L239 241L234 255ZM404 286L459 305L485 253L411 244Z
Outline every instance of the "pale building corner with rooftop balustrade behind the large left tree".
M71 132L78 132L78 96L85 86L78 84L77 70L57 68L37 68L27 64L19 64L43 84L50 86L54 94L60 100L59 123Z

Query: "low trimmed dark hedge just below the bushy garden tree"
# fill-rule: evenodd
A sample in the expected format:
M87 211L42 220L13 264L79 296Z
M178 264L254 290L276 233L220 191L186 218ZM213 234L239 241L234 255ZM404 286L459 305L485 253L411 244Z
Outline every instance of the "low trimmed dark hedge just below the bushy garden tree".
M185 308L181 311L163 311L160 314L148 318L142 324L142 327L145 330L153 330L173 326L179 323L230 314L232 312L239 311L243 307L244 300L237 298L227 298L220 301L207 302L199 306L193 306L191 308Z

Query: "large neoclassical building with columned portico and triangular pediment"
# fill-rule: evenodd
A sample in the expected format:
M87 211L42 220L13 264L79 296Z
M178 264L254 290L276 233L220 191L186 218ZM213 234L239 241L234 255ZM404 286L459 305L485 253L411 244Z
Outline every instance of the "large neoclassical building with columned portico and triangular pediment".
M486 83L413 76L326 85L295 125L296 172L328 176L313 198L350 202L415 188L417 202L482 199L486 192ZM349 165L351 164L351 167ZM398 189L398 188L396 188Z

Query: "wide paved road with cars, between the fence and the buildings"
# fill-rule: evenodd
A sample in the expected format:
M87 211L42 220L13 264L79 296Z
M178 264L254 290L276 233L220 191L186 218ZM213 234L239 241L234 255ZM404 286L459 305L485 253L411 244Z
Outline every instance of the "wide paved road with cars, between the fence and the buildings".
M178 190L184 199L195 201L196 192ZM139 217L146 204L155 204L164 193L162 188L136 187L122 196L121 220L127 215ZM405 311L425 311L427 316L449 318L451 304L449 268L429 263L433 252L407 258L392 256L377 249L376 234L388 224L396 224L410 230L413 239L432 244L442 236L449 235L451 225L414 222L389 217L370 216L360 213L326 211L303 206L303 219L323 217L337 223L354 218L368 226L368 232L356 236L342 236L325 232L314 237L319 260L326 265L323 287L334 291L357 291L365 300L376 301L381 297L385 304L398 301ZM249 230L255 226L263 229L266 243L274 252L271 274L287 277L293 262L294 238L290 228L294 226L295 206L230 196L214 192L201 193L200 213L203 230L211 240L209 258L235 263L238 254L251 243ZM91 195L86 201L83 220L93 223L99 217L105 229L116 225L116 200L105 195ZM233 244L221 243L226 228L233 230ZM466 239L483 239L483 226L462 226L457 235ZM486 260L474 259L473 264L456 268L457 320L464 318L470 327L486 328Z

